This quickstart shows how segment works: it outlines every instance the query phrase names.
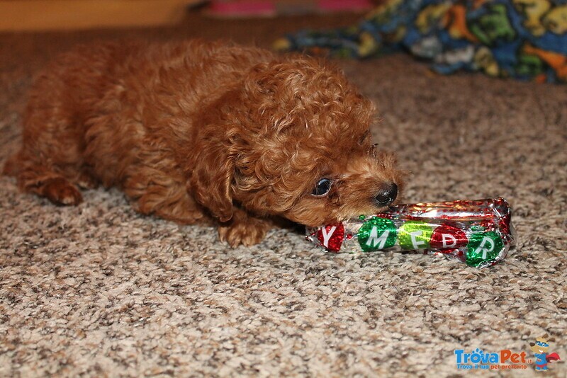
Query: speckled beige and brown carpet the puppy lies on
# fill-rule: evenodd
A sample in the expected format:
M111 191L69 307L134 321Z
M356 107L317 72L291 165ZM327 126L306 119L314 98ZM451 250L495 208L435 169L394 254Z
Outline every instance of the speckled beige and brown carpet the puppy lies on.
M267 47L353 21L191 16L159 30L0 35L0 164L18 146L31 75L77 42ZM459 377L490 373L457 369L456 349L533 359L529 343L544 333L566 360L567 87L434 76L405 55L338 63L378 104L376 142L412 171L407 202L509 200L517 247L504 263L325 253L294 229L231 249L212 228L136 214L117 190L55 207L1 177L0 376ZM560 361L544 375L566 374Z

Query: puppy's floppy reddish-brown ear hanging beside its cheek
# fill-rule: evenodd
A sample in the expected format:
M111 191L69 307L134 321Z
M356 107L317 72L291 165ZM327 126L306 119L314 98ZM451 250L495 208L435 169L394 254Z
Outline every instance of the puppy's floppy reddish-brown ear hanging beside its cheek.
M231 154L228 130L225 125L206 125L198 130L193 149L189 191L220 222L232 218L232 179L235 156Z

